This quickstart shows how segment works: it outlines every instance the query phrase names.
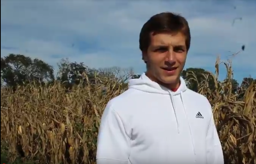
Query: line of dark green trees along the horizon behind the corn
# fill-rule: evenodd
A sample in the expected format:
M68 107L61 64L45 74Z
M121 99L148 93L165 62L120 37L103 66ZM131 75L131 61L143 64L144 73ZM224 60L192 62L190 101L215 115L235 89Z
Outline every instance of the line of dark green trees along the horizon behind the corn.
M86 85L87 80L83 76L83 74L86 74L88 81L92 84L101 83L95 77L112 77L113 80L121 80L119 82L124 83L123 88L126 88L126 80L140 78L140 75L133 74L132 70L129 70L129 72L123 70L123 73L120 73L121 69L117 67L92 69L87 67L83 62L70 62L68 59L62 59L57 65L58 74L55 78L53 67L44 61L37 58L32 59L24 55L9 54L1 58L1 86L3 82L7 86L15 87L17 85L27 84L30 81L47 84L60 81L67 89L71 89L73 86L78 85L80 81L84 81L83 84ZM204 76L209 74L208 71L202 68L188 68L181 72L181 76L186 80L188 88L195 92L199 92L200 84L202 85L204 83ZM216 90L214 79L209 76L208 80L210 90ZM241 85L235 79L231 81L232 93L235 94L240 89L248 88L256 79L251 77L243 78Z

